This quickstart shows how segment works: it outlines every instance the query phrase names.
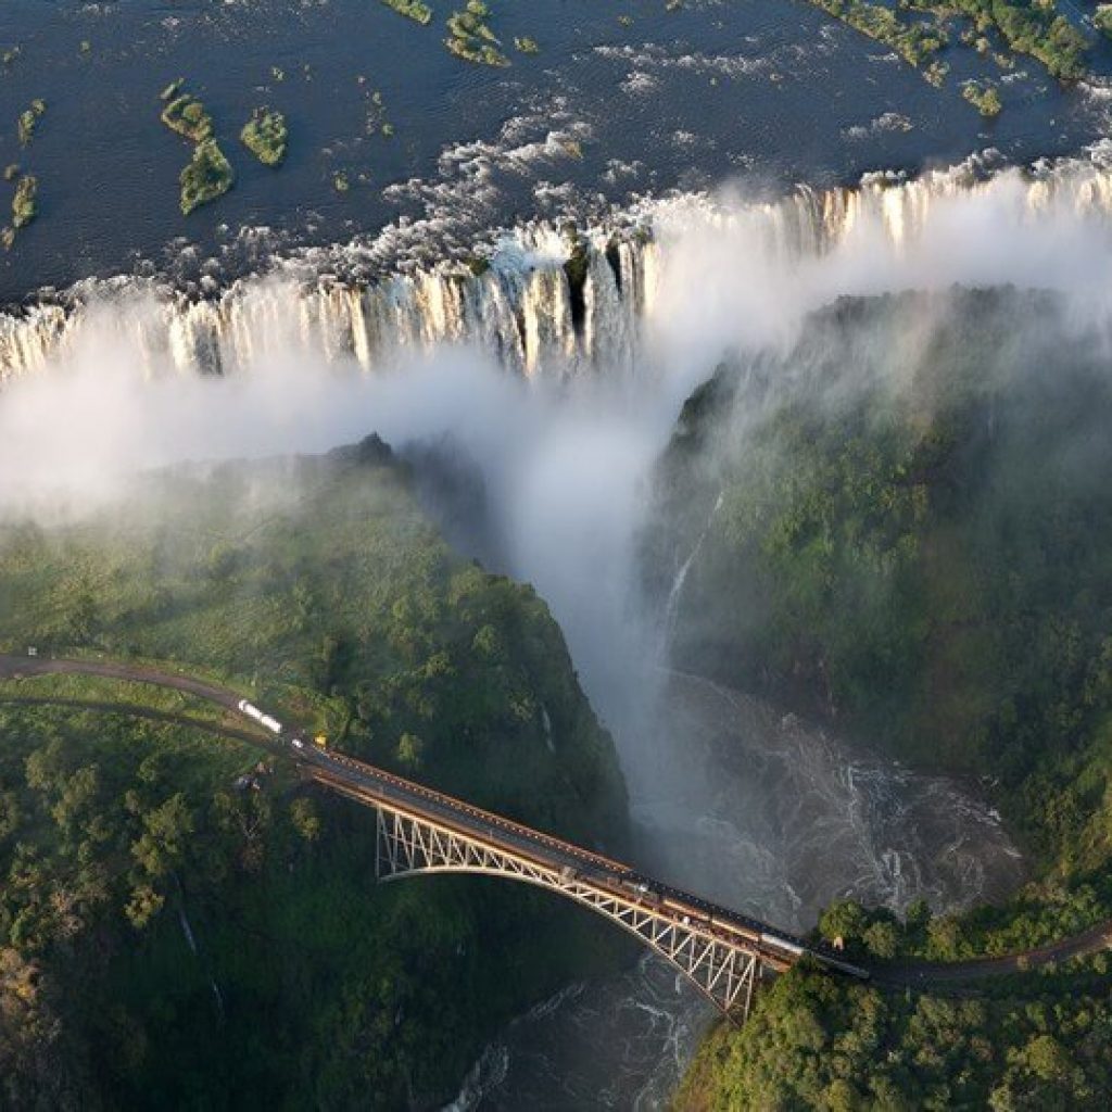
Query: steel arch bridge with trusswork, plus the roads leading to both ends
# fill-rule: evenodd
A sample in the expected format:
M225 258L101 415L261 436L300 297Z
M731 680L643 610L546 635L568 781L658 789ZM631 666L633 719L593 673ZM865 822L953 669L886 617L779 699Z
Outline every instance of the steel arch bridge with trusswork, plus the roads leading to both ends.
M558 892L638 936L676 965L721 1010L747 1011L763 970L782 971L804 957L830 972L890 987L944 989L985 976L1039 969L1112 947L1112 922L1048 946L1002 957L954 963L893 963L870 967L699 896L646 876L622 862L485 811L345 754L326 752L304 731L284 726L219 685L142 665L0 654L0 679L81 674L151 684L217 704L265 733L185 714L93 699L8 696L0 702L52 704L173 721L282 752L322 786L378 812L379 878L418 873L488 873Z

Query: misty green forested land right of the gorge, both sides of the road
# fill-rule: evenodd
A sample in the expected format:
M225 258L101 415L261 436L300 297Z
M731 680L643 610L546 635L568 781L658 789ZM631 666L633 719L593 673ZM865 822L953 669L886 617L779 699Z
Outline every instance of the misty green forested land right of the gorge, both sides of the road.
M1112 916L1105 351L1050 295L846 299L685 407L645 542L658 592L695 553L677 666L975 778L1031 863L963 917L835 904L820 929L852 953L1001 954ZM797 971L681 1104L1106 1108L1112 996L1086 969L976 1003Z

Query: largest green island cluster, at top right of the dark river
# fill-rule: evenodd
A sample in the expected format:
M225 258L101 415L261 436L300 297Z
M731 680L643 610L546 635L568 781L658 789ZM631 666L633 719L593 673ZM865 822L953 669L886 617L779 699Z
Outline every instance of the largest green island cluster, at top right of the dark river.
M862 34L895 50L904 61L922 69L924 77L941 85L949 66L939 53L950 44L947 22L964 18L970 27L962 41L987 51L983 37L996 33L1015 53L1040 61L1051 76L1078 80L1088 72L1089 42L1059 11L1058 0L903 0L902 12L933 16L933 22L909 18L866 0L807 0ZM1098 26L1100 26L1098 23ZM979 38L980 37L980 38Z

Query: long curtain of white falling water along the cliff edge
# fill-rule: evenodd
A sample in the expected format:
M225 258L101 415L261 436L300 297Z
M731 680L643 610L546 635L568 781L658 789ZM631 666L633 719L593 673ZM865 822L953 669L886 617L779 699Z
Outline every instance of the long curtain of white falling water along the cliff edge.
M397 349L444 342L480 347L526 377L620 371L634 365L644 322L666 308L667 229L682 219L723 234L742 228L749 250L790 261L820 258L861 229L898 252L929 236L932 215L955 198L999 199L1021 222L1051 209L1105 218L1112 143L1025 170L974 158L910 180L873 173L852 188L800 186L762 203L645 201L574 236L543 224L503 232L484 249L483 266L447 262L345 280L337 277L345 250L338 246L332 255L316 249L311 265L307 257L275 260L270 272L201 300L149 278L90 279L0 311L0 387L43 370L93 329L112 339L113 350L122 341L150 376L230 375L260 357L309 351L373 374ZM587 250L582 306L573 306L565 274L576 242Z

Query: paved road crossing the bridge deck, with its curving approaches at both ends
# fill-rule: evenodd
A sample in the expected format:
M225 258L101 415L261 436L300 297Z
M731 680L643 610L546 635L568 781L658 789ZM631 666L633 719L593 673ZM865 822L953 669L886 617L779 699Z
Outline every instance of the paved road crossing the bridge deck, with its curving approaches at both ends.
M209 684L191 676L151 668L143 665L125 664L96 659L54 659L44 657L26 657L0 654L0 679L11 679L32 675L66 675L82 674L121 679L128 683L153 684L170 687L176 691L196 695L230 711L239 713L241 696L215 684ZM48 699L42 696L19 696L9 702L36 702ZM230 727L216 727L202 719L191 719L185 715L173 715L169 712L141 711L128 704L99 703L81 699L49 699L56 705L76 705L86 708L99 708L113 713L138 714L141 717L157 721L177 721L185 724L225 733L254 744L266 745L270 749L280 748L291 757L302 762L310 774L326 785L345 790L346 794L355 795L364 802L374 804L381 802L387 805L404 807L406 811L427 816L434 821L454 826L465 834L477 834L494 845L503 846L510 852L526 854L546 865L558 868L568 867L584 875L597 878L600 883L610 884L631 891L632 885L648 885L663 901L679 909L679 913L689 913L699 919L713 917L717 923L729 930L749 936L761 936L766 940L786 944L784 952L807 952L827 966L841 967L843 972L861 971L842 962L837 955L816 950L802 939L771 927L756 920L739 915L726 907L712 904L698 896L661 884L658 881L642 876L620 862L612 861L600 854L583 850L579 846L564 842L560 838L545 834L532 827L515 823L502 815L483 811L461 800L453 798L435 792L421 784L394 776L381 768L355 761L335 752L321 752L305 739L304 732L288 728L280 738L270 735L237 731ZM301 743L295 745L295 738ZM877 983L894 987L929 989L976 981L986 976L1000 976L1020 973L1024 970L1039 969L1052 962L1063 962L1071 957L1094 954L1112 947L1112 921L1091 927L1081 934L1046 946L1039 946L1022 953L1003 957L984 957L965 962L915 962L873 964L868 974ZM781 955L783 957L783 955ZM785 963L786 964L786 963Z

